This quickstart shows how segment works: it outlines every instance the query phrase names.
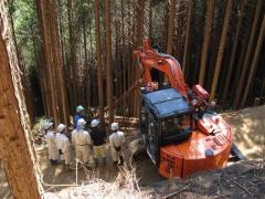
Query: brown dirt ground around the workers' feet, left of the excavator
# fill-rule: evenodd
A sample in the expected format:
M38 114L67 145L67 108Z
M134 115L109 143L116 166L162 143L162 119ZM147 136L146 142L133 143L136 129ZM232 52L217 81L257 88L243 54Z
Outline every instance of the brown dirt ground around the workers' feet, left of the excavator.
M130 132L127 134L127 143L136 137L136 132ZM72 161L73 165L71 166L73 169L65 170L63 165L51 166L47 161L47 153L45 148L41 148L36 151L40 168L43 174L43 181L46 186L44 186L45 190L49 191L59 191L63 189L62 186L56 185L74 185L76 184L76 169L74 164L74 148L72 149ZM137 178L139 179L139 186L147 186L156 181L160 181L163 178L157 172L157 168L150 161L148 156L145 153L139 154L137 157L134 158L132 163L129 164L129 151L128 148L125 148L125 157L126 157L126 167L129 169L136 169ZM105 181L114 181L118 176L119 168L115 166L112 161L110 155L107 155L106 166L99 161L98 167L93 170L88 170L85 167L81 167L77 171L77 184L81 185L84 180L91 180L95 178L103 179Z

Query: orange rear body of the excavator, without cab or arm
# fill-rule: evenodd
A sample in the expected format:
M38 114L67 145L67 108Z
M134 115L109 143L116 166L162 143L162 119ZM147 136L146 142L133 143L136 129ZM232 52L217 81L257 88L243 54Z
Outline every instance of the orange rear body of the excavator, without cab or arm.
M188 140L160 147L159 172L163 177L187 178L197 171L226 166L232 146L231 127L220 116L216 116L219 124L215 124L213 117L209 115L199 119L198 129ZM212 129L216 130L215 135L210 135ZM205 154L209 149L211 155Z

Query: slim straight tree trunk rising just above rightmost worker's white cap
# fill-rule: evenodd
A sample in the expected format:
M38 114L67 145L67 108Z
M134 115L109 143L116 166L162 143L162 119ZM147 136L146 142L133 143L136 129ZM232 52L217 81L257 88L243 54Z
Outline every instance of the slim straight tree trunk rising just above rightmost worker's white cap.
M107 106L108 123L114 121L113 112L113 55L112 55L112 30L110 30L110 0L105 0L105 25L106 25L106 67L107 67Z

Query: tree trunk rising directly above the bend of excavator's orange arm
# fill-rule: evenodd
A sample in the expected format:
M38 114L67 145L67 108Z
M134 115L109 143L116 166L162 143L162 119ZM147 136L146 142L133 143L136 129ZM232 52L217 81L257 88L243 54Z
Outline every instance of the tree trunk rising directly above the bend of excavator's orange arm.
M172 54L176 11L177 0L169 0L168 40L167 40L168 54Z

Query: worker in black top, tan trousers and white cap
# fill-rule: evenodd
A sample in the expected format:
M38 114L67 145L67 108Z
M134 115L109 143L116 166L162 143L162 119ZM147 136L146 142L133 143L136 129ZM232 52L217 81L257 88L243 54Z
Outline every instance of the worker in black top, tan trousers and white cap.
M106 132L99 128L99 119L93 119L91 122L91 138L93 142L93 155L95 164L98 164L98 158L103 158L103 164L106 164Z

